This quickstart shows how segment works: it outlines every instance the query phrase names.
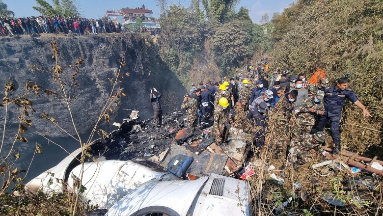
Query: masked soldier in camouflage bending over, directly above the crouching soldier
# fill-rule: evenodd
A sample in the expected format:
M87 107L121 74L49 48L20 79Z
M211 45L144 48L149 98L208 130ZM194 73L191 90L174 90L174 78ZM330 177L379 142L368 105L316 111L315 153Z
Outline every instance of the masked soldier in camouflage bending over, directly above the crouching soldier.
M315 94L303 99L296 121L291 129L291 143L298 142L302 135L310 134L319 116L325 113L324 96L323 91L316 91Z

